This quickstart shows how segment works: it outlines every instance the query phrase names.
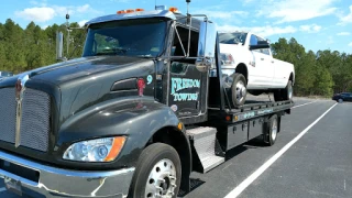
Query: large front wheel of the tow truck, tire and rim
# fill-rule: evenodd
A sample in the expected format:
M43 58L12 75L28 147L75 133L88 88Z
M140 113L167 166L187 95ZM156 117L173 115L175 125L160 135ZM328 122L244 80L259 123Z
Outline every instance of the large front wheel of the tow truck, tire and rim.
M176 198L180 186L180 177L182 164L176 150L164 143L152 144L142 152L139 158L129 197L146 198L153 193L164 195L168 191L168 195ZM173 185L176 186L173 187ZM157 187L164 189L157 189ZM165 188L167 189L165 190Z

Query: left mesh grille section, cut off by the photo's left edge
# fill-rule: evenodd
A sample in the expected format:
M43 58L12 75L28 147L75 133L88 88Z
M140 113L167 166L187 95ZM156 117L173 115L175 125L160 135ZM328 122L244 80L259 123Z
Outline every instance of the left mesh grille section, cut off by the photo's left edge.
M0 89L0 140L14 143L15 134L14 88Z

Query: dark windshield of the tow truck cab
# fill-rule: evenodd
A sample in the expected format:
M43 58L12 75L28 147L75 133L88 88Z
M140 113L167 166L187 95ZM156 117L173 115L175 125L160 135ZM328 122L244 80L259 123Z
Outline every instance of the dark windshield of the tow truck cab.
M163 52L166 21L125 20L89 28L82 56L127 55L156 57Z

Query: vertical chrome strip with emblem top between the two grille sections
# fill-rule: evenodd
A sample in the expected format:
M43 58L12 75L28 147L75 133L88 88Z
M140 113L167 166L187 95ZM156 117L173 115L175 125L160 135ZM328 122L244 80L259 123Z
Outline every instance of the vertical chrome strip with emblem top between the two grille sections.
M29 75L22 75L15 82L15 101L16 101L16 113L15 113L15 139L14 146L19 147L21 144L21 120L22 120L22 100L23 92L25 90L25 82L30 79Z

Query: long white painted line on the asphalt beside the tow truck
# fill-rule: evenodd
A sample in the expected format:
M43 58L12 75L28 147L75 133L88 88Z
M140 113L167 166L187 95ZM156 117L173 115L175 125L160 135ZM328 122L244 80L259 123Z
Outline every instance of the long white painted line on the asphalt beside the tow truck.
M257 168L252 175L244 179L239 186L237 186L232 191L230 191L226 198L238 197L246 187L249 187L258 176L261 176L275 161L278 160L290 146L293 146L300 138L302 138L314 125L316 125L334 106L322 113L316 121L308 125L304 131L301 131L294 140L286 144L280 151L278 151L274 156L266 161L260 168Z

